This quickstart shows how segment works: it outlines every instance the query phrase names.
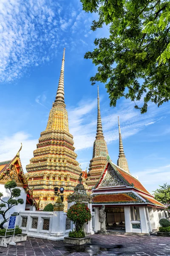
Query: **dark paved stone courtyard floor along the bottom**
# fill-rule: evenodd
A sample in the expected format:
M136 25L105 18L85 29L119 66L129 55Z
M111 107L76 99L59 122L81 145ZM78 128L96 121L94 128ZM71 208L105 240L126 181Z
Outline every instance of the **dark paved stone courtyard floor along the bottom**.
M91 244L74 246L63 241L50 241L28 237L17 246L0 247L0 256L170 256L170 238L95 234Z

